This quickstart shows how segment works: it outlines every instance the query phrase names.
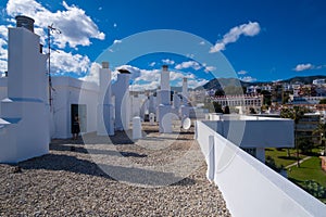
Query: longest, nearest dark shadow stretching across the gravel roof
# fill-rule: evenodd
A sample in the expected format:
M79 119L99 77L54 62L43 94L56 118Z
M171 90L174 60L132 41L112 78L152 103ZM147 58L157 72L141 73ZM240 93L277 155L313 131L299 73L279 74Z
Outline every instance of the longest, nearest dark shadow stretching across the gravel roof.
M173 173L147 170L135 167L122 167L106 164L95 164L90 161L79 159L75 156L47 154L18 163L24 170L46 169L65 170L75 174L102 177L126 184L140 187L164 187L164 186L192 186L195 180L176 177Z

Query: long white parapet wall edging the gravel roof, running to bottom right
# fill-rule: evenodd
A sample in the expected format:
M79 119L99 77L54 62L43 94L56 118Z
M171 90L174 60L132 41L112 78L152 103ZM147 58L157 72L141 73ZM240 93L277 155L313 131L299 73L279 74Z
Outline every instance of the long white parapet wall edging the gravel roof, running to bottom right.
M203 122L196 122L196 139L208 164L208 178L222 191L233 216L325 216L325 204Z

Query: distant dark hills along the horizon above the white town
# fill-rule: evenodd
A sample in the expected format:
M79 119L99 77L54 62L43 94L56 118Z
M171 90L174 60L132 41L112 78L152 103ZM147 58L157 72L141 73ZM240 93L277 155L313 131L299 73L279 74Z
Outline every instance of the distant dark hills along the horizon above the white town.
M281 80L279 82L287 82L287 84L296 84L296 82L303 82L304 85L312 84L315 79L326 79L325 75L316 75L316 76L305 76L305 77L293 77L286 80ZM241 84L242 87L255 86L255 85L271 85L273 81L256 81L256 82L244 82L238 78L214 78L203 85L202 87L198 87L196 89L221 89L222 87L227 86L239 86Z

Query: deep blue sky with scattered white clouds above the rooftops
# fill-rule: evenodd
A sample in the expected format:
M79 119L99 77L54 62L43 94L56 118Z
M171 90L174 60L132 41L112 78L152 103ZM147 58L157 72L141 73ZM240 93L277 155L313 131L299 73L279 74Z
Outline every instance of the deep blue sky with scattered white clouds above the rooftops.
M7 61L5 28L14 25L15 15L25 14L36 20L36 33L41 36L52 23L61 29L61 35L53 35L53 47L60 53L53 53L51 71L58 75L88 75L96 79L91 65L105 49L111 52L113 47L123 46L125 38L154 29L181 30L203 39L204 55L222 53L233 66L235 73L229 77L261 81L326 75L326 2L323 0L2 0L0 7L2 72ZM45 37L42 41L47 43ZM179 84L183 75L189 77L191 86L224 76L218 71L220 63L206 65L193 59L191 53L143 53L124 65L140 76L138 85L155 86L159 77L154 74L162 64L168 64L174 72L172 85ZM114 61L109 62L112 71L118 67ZM208 73L210 69L216 71L214 75Z

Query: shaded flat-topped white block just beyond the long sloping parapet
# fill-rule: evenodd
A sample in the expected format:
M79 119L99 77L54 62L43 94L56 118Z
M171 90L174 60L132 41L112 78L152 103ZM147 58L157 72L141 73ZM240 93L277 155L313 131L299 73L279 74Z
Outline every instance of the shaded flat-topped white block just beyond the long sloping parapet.
M204 122L214 131L241 148L293 148L292 119L247 115L210 114Z

